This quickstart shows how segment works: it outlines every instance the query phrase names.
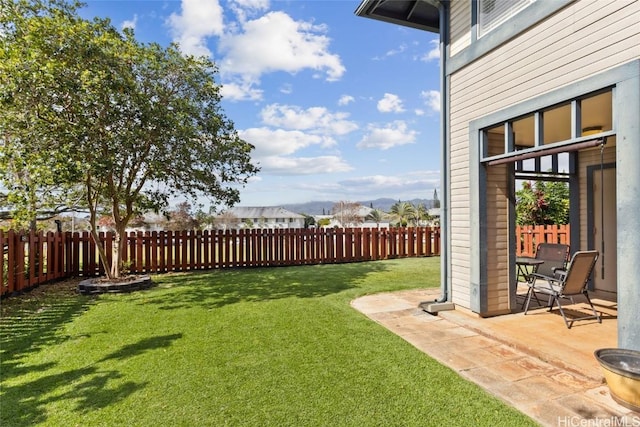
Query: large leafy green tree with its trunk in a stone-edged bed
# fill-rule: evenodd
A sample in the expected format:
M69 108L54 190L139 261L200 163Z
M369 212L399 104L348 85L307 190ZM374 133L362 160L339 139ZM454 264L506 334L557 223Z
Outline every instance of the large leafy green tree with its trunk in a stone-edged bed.
M78 3L10 5L0 28L11 64L2 69L2 108L12 129L34 126L37 133L2 138L12 158L27 150L46 164L55 154L66 172L62 183L82 183L109 277L120 276L125 229L142 211L164 210L177 195L239 201L239 187L258 169L253 147L221 110L214 63L184 56L176 45L140 43L108 20L81 19ZM29 68L38 72L20 72ZM21 96L25 82L42 86L43 95ZM110 266L96 227L105 212L117 242Z

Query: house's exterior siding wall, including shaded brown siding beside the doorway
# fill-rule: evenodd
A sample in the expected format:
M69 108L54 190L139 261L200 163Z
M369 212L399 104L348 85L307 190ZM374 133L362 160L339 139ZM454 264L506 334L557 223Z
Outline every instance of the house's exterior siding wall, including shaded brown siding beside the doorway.
M474 43L480 45L489 38L474 39L470 3L453 1L450 8L450 57L446 68L450 87L449 280L452 302L481 315L492 315L509 309L508 289L504 284L512 275L507 262L509 236L505 205L508 199L505 191L510 183L503 181L509 174L490 168L478 187L478 177L483 172L478 162L479 148L474 145L477 140L474 141L469 124L500 111L512 110L517 114L519 110L514 106L545 93L561 91L568 85L575 89L579 84L576 82L640 58L640 26L637 25L640 1L564 2L552 14L528 28L523 26L522 31L509 35L481 56L469 52L481 51ZM553 2L534 3L536 13L541 13L543 3ZM527 22L527 13L525 9L514 22ZM508 31L513 32L513 25L507 26ZM498 30L491 36L494 42L499 38ZM552 99L549 97L550 102ZM505 119L513 117L505 113ZM609 161L615 161L611 153L615 153L615 149L607 148ZM600 161L599 152L597 159L592 153L581 155L580 173L586 173L583 168L596 160ZM579 180L580 191L584 193L587 190L582 186L586 181L582 177ZM483 208L485 213L480 215ZM580 234L586 236L586 220L580 223ZM485 256L481 256L483 252ZM491 256L486 256L489 252Z

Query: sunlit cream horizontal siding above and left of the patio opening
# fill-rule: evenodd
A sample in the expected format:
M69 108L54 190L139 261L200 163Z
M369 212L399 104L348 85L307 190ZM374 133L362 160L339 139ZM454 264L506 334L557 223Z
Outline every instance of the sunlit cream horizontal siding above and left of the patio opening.
M470 25L470 19L455 10L451 28L457 40L464 34L458 20ZM639 58L638 22L640 0L579 0L450 76L451 283L456 304L469 308L469 122Z

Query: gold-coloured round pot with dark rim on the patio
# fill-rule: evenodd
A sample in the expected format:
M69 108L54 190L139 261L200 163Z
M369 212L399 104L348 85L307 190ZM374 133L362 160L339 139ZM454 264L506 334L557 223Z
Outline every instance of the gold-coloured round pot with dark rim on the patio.
M594 353L613 400L640 412L640 351L601 348Z

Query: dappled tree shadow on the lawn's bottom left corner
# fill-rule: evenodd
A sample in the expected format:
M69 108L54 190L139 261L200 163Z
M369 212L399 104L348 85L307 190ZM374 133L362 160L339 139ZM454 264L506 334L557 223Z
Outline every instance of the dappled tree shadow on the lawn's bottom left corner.
M30 426L48 421L50 404L65 402L66 407L80 413L89 413L119 402L147 383L126 381L123 374L113 369L111 360L122 360L169 347L182 334L145 338L137 343L123 346L90 366L55 372L55 364L30 366L29 371L45 372L31 381L2 387L2 425ZM46 371L54 371L47 374Z

